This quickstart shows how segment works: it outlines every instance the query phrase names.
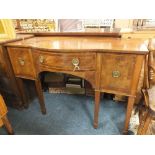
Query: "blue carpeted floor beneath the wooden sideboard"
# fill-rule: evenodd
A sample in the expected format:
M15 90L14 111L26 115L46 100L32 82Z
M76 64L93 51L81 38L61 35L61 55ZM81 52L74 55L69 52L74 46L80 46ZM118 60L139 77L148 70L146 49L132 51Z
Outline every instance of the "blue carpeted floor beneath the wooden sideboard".
M120 135L126 104L101 100L99 127L93 128L94 98L83 95L44 93L47 114L42 115L38 100L28 109L9 108L8 117L16 135ZM0 134L7 134L4 128Z

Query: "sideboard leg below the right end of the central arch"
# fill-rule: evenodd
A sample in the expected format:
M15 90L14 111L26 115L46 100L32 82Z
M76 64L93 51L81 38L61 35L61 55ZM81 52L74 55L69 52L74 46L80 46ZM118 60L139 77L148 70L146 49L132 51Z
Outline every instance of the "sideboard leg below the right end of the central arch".
M98 128L99 107L100 107L100 91L95 91L94 128Z

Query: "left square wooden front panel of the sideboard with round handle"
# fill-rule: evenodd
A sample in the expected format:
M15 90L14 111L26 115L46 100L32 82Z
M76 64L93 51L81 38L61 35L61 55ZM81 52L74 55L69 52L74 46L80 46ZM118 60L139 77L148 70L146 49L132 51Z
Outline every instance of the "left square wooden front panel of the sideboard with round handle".
M30 49L8 48L8 52L16 76L25 78L35 77L35 69Z

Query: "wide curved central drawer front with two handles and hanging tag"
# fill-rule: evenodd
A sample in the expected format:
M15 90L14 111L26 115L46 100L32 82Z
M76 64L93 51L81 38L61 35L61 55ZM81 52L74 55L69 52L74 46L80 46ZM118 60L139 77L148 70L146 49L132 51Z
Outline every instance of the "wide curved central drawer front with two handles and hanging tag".
M33 51L37 66L64 71L94 71L96 67L95 53L45 53Z

